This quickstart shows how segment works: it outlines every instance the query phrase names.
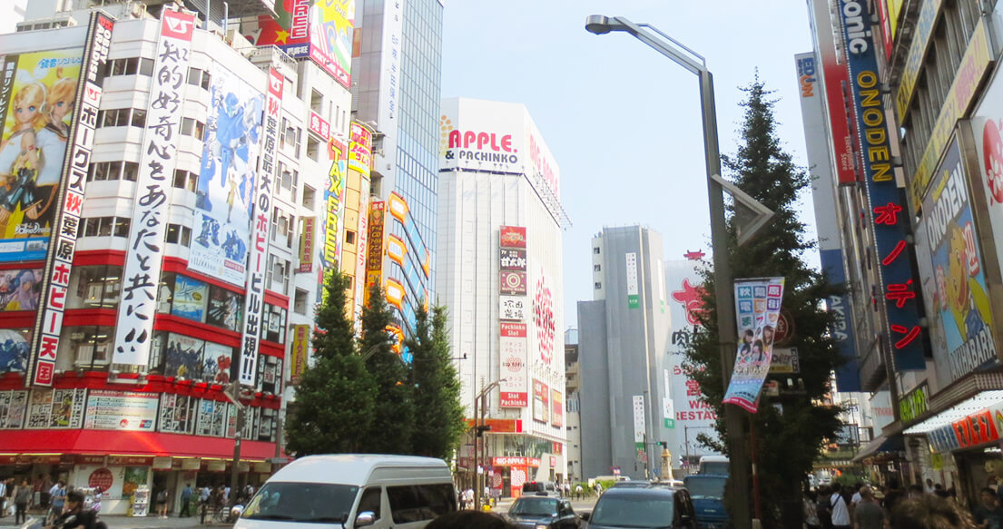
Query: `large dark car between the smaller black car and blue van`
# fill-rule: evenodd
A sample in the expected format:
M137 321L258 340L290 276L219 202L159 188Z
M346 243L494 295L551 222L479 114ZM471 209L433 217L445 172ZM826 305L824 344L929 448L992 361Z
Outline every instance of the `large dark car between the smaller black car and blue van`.
M693 501L681 487L627 487L606 491L588 516L589 529L695 529Z

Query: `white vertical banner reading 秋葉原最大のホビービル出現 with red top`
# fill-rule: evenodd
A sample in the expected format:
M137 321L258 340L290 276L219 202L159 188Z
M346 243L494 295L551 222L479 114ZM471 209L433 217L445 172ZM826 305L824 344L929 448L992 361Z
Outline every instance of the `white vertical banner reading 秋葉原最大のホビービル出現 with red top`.
M258 159L258 177L253 179L251 253L247 267L247 292L244 298L244 339L241 341L241 362L237 380L246 386L255 385L258 363L258 342L261 339L262 311L265 309L265 267L268 261L268 227L272 217L272 175L279 123L282 120L282 88L285 78L275 68L268 70L268 102L265 107L265 133L262 153ZM253 127L253 123L250 125ZM220 132L217 133L218 136ZM247 162L254 158L248 154ZM205 163L205 160L203 161Z

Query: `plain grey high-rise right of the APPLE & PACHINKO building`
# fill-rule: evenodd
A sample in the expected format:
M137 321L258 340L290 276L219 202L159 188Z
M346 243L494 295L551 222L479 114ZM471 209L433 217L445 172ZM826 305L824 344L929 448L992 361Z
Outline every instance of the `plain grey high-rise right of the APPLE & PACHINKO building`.
M593 301L578 303L582 472L651 479L673 421L662 236L638 225L592 239Z

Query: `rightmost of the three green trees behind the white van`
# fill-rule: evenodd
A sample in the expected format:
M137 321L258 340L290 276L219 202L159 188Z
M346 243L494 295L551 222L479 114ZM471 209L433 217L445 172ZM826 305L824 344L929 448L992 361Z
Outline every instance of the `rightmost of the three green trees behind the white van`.
M414 454L448 461L466 425L449 347L446 308L433 307L429 318L428 312L420 307L414 337L407 345L413 356L414 418L420 425L412 436Z

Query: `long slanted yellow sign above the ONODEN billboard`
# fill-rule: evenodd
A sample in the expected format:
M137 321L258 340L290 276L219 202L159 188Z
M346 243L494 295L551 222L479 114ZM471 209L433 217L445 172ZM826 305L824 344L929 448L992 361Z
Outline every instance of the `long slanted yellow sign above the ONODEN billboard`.
M968 49L961 58L961 65L954 76L954 83L944 100L944 107L941 108L940 116L934 124L934 129L930 133L930 140L927 141L927 148L923 150L923 157L916 166L916 173L910 182L913 195L913 205L923 203L923 194L930 185L934 168L940 160L944 147L951 139L954 126L959 119L968 113L968 107L975 99L975 89L979 87L982 77L989 70L989 62L992 53L989 49L989 34L986 30L985 21L979 21L975 26L975 33L968 42Z

